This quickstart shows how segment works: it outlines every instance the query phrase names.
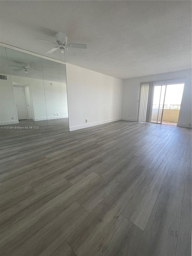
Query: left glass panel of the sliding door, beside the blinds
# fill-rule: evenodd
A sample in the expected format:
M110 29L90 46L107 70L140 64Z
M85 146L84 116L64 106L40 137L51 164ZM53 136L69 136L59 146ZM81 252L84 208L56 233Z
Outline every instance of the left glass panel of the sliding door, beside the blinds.
M164 111L164 102L167 85L155 86L152 108L152 123L161 124Z

